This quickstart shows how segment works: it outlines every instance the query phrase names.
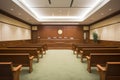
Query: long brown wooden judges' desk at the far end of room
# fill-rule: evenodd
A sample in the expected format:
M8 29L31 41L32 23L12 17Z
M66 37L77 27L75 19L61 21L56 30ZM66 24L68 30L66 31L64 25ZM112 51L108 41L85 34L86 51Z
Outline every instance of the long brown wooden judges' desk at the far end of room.
M45 43L48 49L71 49L73 43L80 43L79 39L40 39L40 43Z

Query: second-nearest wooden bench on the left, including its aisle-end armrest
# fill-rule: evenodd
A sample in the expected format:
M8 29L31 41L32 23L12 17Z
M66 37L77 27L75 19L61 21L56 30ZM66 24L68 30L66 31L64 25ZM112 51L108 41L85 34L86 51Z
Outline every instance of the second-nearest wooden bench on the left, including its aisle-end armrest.
M22 64L24 67L29 67L29 72L33 71L32 62L33 56L29 53L0 53L0 62L12 62L14 66Z

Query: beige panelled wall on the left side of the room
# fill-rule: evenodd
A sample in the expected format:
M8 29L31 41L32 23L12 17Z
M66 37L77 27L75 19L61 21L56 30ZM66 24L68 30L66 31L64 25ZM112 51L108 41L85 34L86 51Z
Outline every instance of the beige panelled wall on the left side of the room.
M31 26L0 14L0 41L31 39Z

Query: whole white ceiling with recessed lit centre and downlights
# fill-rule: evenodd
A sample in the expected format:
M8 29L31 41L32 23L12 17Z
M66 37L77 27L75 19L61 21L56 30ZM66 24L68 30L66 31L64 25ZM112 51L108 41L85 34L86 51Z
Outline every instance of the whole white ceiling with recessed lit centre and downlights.
M120 10L120 0L110 0L106 5L100 8L98 11L88 16L85 15L85 11L90 10L93 5L99 0L23 0L25 1L34 12L19 7L12 0L0 0L0 9L3 11L18 17L30 24L62 24L62 23L76 23L80 25L89 25L95 21L98 21L110 14L113 14ZM49 3L51 2L51 4ZM73 3L71 4L71 2ZM101 0L100 0L101 1ZM103 0L105 1L105 0ZM32 16L30 15L32 14ZM84 21L80 21L78 17L88 16ZM39 17L40 16L40 17ZM43 19L41 19L43 17ZM51 18L54 17L54 18ZM55 18L57 17L57 18ZM66 18L67 17L67 18ZM40 18L39 21L35 18ZM55 23L54 23L55 22Z

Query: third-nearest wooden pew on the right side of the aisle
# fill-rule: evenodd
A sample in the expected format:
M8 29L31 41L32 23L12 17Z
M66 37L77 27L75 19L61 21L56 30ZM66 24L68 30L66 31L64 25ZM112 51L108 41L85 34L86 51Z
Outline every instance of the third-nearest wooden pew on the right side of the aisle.
M81 51L81 62L83 58L89 56L90 53L120 53L120 48L83 48Z

